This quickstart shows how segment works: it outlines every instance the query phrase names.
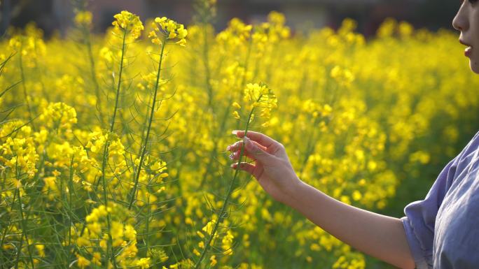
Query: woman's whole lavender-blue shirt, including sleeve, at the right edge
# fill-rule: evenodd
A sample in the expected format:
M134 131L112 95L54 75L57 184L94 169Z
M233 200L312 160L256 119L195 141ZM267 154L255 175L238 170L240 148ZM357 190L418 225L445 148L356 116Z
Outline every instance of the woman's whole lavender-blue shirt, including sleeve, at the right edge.
M426 198L404 208L419 269L479 268L479 132L439 174Z

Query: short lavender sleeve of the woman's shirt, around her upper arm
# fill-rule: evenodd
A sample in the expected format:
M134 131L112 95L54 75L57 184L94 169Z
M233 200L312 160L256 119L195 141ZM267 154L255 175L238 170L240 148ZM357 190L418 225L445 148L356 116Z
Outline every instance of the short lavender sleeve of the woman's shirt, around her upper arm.
M401 221L418 269L433 268L434 224L438 209L450 187L448 178L454 175L457 168L456 160L457 157L447 163L424 200L412 202L404 208L405 217Z

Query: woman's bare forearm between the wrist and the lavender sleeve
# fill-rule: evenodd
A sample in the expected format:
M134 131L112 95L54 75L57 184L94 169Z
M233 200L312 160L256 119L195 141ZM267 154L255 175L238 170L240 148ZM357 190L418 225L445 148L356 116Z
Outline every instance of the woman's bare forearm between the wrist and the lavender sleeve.
M399 268L415 268L400 219L347 205L304 182L291 189L286 205L361 252Z

